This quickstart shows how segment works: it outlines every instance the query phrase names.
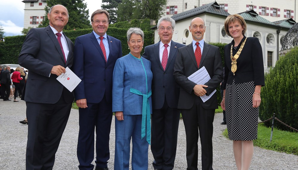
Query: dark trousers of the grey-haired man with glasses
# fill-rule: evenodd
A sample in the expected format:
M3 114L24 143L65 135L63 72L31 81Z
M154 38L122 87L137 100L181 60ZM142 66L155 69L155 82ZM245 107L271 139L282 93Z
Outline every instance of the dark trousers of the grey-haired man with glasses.
M180 110L170 108L167 101L151 116L151 151L154 169L173 169L177 149Z

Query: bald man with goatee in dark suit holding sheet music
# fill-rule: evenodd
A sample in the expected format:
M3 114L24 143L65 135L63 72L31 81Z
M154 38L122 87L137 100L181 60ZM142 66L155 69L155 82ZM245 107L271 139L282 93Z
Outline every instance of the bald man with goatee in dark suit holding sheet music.
M189 26L193 41L178 49L174 77L179 84L178 109L181 109L186 133L186 160L188 170L198 169L198 130L202 147L202 169L212 169L212 134L216 95L203 102L200 96L210 95L223 79L219 48L204 42L205 22L194 18ZM195 84L187 77L205 66L210 80Z

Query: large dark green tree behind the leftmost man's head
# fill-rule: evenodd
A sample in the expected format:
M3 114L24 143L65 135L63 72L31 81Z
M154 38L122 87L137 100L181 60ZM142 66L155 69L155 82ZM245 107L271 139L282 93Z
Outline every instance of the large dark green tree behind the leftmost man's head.
M89 21L89 10L86 10L87 4L84 0L47 0L47 6L44 8L46 11L45 20L38 27L46 27L49 25L49 19L47 14L49 13L50 7L56 4L61 4L69 12L69 20L64 30L84 29L91 28Z

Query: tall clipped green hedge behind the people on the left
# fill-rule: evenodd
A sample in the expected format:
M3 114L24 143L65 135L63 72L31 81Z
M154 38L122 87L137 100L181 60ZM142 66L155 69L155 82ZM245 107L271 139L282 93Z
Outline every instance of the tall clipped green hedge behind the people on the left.
M122 55L126 55L129 53L126 36L127 30L128 29L115 27L109 27L107 30L108 35L111 35L121 41ZM77 38L78 36L89 34L91 32L92 28L64 31L66 36L69 37L73 43L75 43L75 38ZM144 35L144 47L154 43L152 31L144 31ZM25 38L26 35L5 37L5 42L0 44L0 64L18 64L18 55L21 51L22 44ZM144 51L142 51L142 53L143 52Z

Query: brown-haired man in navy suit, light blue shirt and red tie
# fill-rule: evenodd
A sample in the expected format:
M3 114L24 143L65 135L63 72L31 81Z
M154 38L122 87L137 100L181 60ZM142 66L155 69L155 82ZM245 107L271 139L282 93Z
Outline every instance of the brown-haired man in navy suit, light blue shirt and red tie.
M96 170L108 170L112 122L112 79L115 62L122 57L121 42L106 34L109 13L91 15L93 31L75 40L74 72L82 80L75 89L79 107L77 158L80 170L94 168L94 127L96 128Z

